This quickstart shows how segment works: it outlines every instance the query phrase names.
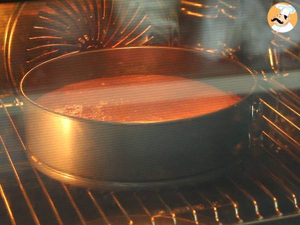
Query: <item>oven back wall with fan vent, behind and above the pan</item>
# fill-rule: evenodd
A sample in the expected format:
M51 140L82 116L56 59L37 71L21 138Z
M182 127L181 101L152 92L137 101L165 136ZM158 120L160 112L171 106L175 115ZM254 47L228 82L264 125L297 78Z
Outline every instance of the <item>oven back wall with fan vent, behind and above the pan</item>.
M5 10L1 10L6 14L1 24L6 25L7 15L12 14L3 48L6 62L2 66L6 80L22 76L34 65L50 58L103 47L205 48L235 57L256 70L276 67L278 60L275 58L273 65L269 63L270 49L275 51L273 57L278 54L299 57L299 26L288 34L278 34L267 25L266 13L276 3L271 0L84 0L81 6L73 0L61 2L19 3L14 12L13 7L6 4ZM22 22L16 23L12 32L18 10L21 10L19 20ZM97 18L100 18L99 24ZM12 53L7 47L8 40ZM9 54L10 59L7 58ZM295 61L282 60L284 63L278 62L278 66L295 67ZM15 64L18 66L14 68ZM15 81L12 84L17 86Z

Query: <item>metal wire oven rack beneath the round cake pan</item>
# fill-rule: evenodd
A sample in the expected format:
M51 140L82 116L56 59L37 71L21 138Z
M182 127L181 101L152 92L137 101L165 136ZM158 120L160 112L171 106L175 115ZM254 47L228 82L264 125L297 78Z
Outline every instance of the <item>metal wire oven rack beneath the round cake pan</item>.
M109 193L46 177L25 156L17 121L22 103L17 98L13 103L1 100L0 223L276 224L300 216L299 142L290 133L299 127L297 118L286 116L299 116L297 99L294 92L260 75L259 87L267 91L259 96L264 105L263 141L253 144L243 168L209 183L163 190Z

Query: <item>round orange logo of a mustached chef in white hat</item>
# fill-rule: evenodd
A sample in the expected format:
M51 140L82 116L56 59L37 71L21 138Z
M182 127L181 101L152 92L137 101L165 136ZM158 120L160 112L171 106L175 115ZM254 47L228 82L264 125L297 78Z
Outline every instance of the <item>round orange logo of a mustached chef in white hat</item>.
M295 27L297 23L296 9L288 3L274 4L267 13L267 22L276 32L285 33Z

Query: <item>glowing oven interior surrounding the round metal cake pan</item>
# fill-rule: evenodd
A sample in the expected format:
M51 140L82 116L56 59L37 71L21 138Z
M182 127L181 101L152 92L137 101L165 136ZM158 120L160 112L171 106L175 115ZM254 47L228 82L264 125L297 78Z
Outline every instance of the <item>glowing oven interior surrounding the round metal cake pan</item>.
M81 6L75 11L76 3L71 0L0 3L0 30L5 34L0 37L0 224L298 224L300 25L290 33L255 25L262 23L260 19L264 22L268 8L278 1L151 0L150 4L123 0L123 6L132 5L127 12L120 10L122 16L115 16L115 21L124 18L128 25L120 29L127 27L134 34L124 40L119 32L113 35L115 29L111 31L110 26L115 26L108 16L115 5L122 8L120 1L78 2ZM296 1L284 2L300 11ZM255 13L261 15L249 9L257 4ZM104 29L93 30L97 24L91 21L91 31L86 34L81 21L98 5L108 14L96 11L102 13ZM55 17L45 7L64 14ZM157 10L160 7L162 12ZM45 30L57 29L54 34L59 33L59 24L44 18L63 23L58 18L72 19L71 13L78 13L78 8L82 18L71 27L73 31L60 31L66 33L64 42L41 38ZM145 12L153 14L149 18L162 18L162 22L147 20ZM142 27L137 26L140 21L146 21ZM163 33L165 30L171 31ZM102 42L91 38L99 33ZM115 192L66 185L32 167L24 141L24 135L30 134L24 132L23 105L15 88L19 78L47 59L115 45L192 48L251 68L257 90L246 159L230 173L209 182Z

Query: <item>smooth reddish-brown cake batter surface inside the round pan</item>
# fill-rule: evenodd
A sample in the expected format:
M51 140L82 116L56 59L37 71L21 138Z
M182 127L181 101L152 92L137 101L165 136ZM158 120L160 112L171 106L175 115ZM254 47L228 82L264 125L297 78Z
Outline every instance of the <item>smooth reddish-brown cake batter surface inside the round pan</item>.
M62 114L118 122L155 122L211 113L240 97L192 79L122 75L68 84L36 102Z

